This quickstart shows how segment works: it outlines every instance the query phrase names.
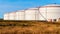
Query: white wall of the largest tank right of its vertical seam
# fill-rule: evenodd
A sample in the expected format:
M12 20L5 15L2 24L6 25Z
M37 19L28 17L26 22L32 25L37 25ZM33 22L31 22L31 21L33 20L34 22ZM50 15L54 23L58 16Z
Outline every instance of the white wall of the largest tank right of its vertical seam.
M60 18L60 8L47 8L47 19Z

